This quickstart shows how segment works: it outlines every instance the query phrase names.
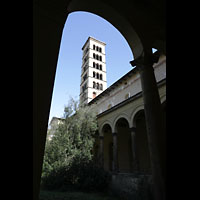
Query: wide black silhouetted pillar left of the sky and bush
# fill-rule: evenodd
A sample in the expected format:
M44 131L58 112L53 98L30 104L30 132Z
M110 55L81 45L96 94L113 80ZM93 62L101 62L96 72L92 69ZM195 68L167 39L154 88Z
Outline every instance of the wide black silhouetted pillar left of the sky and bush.
M33 6L33 199L39 199L45 140L56 65L67 12Z

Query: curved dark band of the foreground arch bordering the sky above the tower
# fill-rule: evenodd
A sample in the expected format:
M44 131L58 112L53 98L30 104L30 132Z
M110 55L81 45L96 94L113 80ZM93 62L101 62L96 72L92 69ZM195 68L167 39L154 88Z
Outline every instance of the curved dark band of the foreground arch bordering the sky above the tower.
M102 17L123 35L131 48L134 58L142 55L143 45L133 26L108 4L94 0L72 0L67 11L69 14L75 11L85 11Z

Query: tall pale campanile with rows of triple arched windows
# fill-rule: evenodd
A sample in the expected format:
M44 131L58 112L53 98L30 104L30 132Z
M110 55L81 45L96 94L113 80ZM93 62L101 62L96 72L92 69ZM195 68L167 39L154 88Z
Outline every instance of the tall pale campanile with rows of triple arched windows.
M87 104L107 88L104 42L88 37L82 47L80 103Z

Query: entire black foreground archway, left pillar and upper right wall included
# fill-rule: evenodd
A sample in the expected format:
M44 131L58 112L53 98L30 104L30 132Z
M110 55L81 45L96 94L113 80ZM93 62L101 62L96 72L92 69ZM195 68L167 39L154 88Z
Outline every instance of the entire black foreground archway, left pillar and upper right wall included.
M139 8L138 6L144 3L143 1L141 1L140 5L135 4L133 1L127 1L126 3L120 2L124 6L123 9L121 9L119 5L115 6L116 2L109 2L108 5L100 0L34 0L33 3L33 193L34 199L38 199L51 96L62 30L67 15L74 11L87 11L103 17L121 32L131 47L133 56L136 59L142 54L144 42L148 40L150 42L155 42L155 45L157 45L152 47L158 50L164 49L165 13L162 14L162 12L165 9L165 3L164 1L150 1L150 7L140 7L141 17L144 14L143 19L139 17L140 14L134 12ZM131 4L130 8L132 10L131 12L126 12L126 10L130 11L128 8L129 4ZM119 9L117 9L117 7ZM129 16L126 13L128 13ZM154 15L153 13L158 14ZM153 17L148 18L148 16L150 17L151 15ZM133 20L134 17L136 20L135 22L138 21L137 34L135 31L136 29L134 30L132 28L132 25L135 24ZM119 21L122 23L119 24ZM141 23L141 26L139 23ZM146 25L147 28L152 27L153 30L151 33L148 32L148 35L147 31L143 31L143 27ZM135 27L136 26L134 26L134 28ZM138 30L140 30L140 37L138 36ZM143 45L141 38L143 38Z

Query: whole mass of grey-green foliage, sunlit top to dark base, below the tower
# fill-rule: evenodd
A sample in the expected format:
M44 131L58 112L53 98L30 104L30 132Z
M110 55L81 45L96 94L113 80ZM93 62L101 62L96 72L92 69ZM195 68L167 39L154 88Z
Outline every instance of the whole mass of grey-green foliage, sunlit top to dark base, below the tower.
M92 160L97 131L96 112L73 99L64 121L47 140L41 186L47 190L104 191L110 176Z

